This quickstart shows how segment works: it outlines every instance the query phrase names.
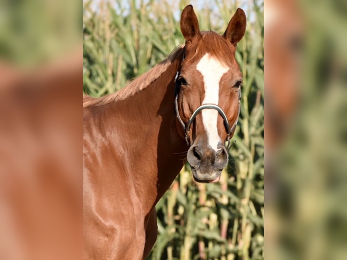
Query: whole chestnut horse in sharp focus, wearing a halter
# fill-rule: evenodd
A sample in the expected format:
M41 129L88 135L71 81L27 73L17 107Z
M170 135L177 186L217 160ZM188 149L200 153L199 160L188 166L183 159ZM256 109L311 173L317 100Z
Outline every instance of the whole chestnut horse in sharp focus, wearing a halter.
M245 13L237 9L220 35L201 32L188 5L180 28L185 44L149 72L116 93L83 96L84 259L145 259L157 237L155 205L185 162L203 183L218 182L227 165Z

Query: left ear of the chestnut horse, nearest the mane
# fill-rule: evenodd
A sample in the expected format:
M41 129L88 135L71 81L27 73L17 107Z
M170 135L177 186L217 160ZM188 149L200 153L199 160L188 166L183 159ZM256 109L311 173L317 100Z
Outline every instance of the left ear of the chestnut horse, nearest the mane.
M187 43L193 42L200 35L199 22L192 5L186 6L182 11L181 32Z

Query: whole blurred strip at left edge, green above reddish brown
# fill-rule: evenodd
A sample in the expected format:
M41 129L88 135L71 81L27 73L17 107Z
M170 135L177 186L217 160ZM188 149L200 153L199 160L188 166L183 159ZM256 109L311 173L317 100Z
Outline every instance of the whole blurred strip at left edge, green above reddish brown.
M0 4L2 260L82 256L82 10L67 3Z

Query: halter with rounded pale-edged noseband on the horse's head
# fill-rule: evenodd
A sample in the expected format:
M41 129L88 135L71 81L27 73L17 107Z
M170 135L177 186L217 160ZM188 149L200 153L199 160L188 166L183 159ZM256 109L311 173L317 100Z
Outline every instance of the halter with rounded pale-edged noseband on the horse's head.
M182 55L182 61L181 63L184 61L185 59L185 50L183 52L183 55ZM187 123L184 123L183 120L181 119L181 116L179 115L179 111L178 111L178 103L177 103L177 99L178 99L178 94L179 94L179 87L178 84L177 84L177 79L179 78L179 75L180 75L180 70L178 70L176 72L176 77L175 77L175 110L176 110L176 115L177 115L177 118L178 118L178 121L181 123L182 127L183 127L183 130L184 130L184 133L185 133L185 139L186 139L186 142L187 142L187 145L188 146L191 146L190 142L189 142L189 130L191 128L191 125L193 123L193 121L195 120L195 117L198 113L200 113L203 109L214 109L214 110L217 110L218 113L222 116L223 120L224 120L224 126L225 126L225 130L227 132L227 137L225 139L225 142L227 142L227 146L226 146L226 149L227 151L230 150L230 148L236 143L236 140L234 142L231 142L231 134L232 132L235 130L236 128L236 125L237 125L237 122L238 122L238 118L239 118L239 115L240 115L240 108L241 108L241 105L240 105L240 101L241 101L241 90L239 88L238 90L238 103L239 103L239 106L238 106L238 113L237 113L237 118L235 120L235 123L232 125L232 127L230 128L230 124L228 122L228 118L227 118L227 115L224 113L224 111L217 105L217 104L202 104L201 106L199 106L192 114L191 118L189 118L188 122Z

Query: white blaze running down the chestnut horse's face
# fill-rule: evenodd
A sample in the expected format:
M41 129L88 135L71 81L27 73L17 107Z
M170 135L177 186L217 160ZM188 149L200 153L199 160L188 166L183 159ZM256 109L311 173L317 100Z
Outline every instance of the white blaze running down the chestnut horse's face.
M206 53L196 65L196 69L200 71L204 78L205 97L202 105L218 105L219 81L229 68ZM207 133L208 144L212 149L217 151L218 143L221 142L217 129L218 111L214 109L204 109L201 111L201 114L202 122Z

